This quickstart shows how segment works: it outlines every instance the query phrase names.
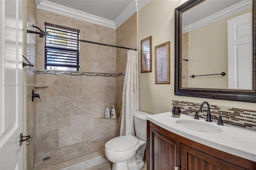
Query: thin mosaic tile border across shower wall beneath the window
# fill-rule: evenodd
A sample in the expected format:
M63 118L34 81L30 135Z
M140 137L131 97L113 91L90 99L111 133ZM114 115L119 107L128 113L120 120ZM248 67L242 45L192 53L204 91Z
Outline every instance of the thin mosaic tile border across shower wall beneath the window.
M125 73L91 73L81 71L59 71L59 70L36 70L36 74L50 74L50 75L77 75L77 76L100 76L100 77L120 77Z

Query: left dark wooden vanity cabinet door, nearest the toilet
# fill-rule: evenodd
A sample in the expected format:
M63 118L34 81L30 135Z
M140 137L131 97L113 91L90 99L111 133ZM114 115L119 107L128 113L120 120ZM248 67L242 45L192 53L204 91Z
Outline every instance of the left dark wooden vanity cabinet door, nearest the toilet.
M148 170L174 170L174 167L180 167L180 143L166 136L168 132L150 123L147 134L150 141L147 146Z

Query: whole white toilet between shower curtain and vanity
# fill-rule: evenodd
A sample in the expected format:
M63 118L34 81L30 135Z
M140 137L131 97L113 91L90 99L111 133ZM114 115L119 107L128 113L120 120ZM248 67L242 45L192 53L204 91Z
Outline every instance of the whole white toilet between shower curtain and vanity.
M133 114L136 136L113 138L105 144L105 154L113 162L112 170L141 170L147 140L146 116L151 114L136 111Z

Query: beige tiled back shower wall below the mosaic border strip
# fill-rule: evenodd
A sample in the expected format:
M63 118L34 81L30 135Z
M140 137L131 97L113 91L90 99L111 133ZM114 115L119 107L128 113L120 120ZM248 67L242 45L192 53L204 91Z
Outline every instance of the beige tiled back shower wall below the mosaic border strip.
M116 77L37 74L41 102L36 101L37 151L91 140L94 118L104 116L105 105L116 105Z

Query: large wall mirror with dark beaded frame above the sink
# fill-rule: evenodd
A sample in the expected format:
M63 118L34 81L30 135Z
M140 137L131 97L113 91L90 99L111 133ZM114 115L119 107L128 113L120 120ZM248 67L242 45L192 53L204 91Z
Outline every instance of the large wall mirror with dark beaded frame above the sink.
M175 9L175 95L256 103L255 10L256 0Z

